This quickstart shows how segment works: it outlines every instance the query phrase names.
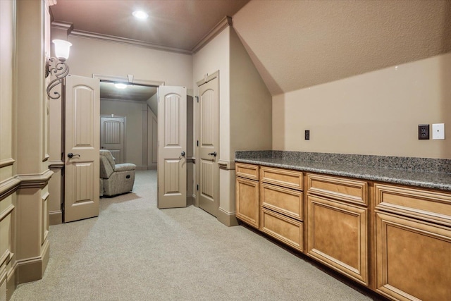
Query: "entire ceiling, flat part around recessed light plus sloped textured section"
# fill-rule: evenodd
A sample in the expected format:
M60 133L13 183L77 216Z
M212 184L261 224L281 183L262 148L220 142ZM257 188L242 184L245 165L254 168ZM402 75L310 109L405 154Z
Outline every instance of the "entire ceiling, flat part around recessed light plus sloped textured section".
M137 8L149 18L134 20ZM273 95L451 51L450 0L58 0L51 13L186 53L232 16Z

